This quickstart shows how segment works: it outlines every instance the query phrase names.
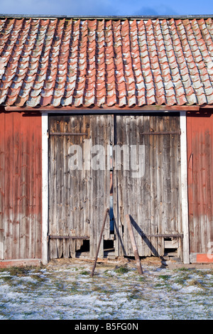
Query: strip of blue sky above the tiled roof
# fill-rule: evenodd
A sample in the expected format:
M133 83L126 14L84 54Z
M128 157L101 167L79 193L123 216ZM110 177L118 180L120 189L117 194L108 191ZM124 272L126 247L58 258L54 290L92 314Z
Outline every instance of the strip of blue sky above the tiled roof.
M204 15L212 0L0 0L0 14L67 16Z

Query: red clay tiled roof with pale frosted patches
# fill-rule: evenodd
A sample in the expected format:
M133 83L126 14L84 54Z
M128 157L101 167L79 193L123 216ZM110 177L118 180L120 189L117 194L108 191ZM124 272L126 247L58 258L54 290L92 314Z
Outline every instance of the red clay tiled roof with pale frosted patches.
M212 18L0 19L0 104L213 104Z

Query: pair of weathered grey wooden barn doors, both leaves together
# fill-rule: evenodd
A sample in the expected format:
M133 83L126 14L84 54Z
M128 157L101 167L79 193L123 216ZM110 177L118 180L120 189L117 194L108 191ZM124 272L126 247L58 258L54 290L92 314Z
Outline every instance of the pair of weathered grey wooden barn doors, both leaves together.
M54 115L49 144L50 258L75 257L84 240L94 257L110 205L99 257L112 237L116 256L133 256L126 215L141 257L181 244L170 238L182 231L178 114Z

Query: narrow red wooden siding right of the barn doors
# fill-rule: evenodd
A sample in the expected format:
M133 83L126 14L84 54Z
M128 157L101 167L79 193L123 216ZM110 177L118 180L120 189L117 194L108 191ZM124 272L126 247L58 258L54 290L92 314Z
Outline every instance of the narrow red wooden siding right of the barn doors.
M208 254L213 244L212 110L187 113L187 163L190 253Z

